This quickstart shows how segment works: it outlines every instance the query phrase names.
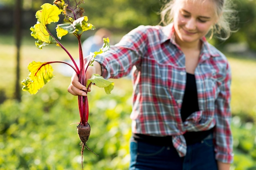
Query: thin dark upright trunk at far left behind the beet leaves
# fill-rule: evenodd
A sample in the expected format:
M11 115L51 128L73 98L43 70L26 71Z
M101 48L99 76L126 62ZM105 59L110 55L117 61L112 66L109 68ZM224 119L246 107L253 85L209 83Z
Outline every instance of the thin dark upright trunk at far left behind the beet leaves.
M14 98L18 101L21 100L20 96L20 42L21 42L21 17L22 15L22 0L16 0L14 8L14 31L15 31L15 41L16 41L16 80L15 80L15 93Z

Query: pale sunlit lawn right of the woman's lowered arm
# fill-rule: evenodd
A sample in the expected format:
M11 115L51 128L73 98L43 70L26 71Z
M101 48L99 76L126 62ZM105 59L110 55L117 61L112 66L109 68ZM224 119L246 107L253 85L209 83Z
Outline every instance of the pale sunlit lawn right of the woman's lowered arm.
M256 121L256 59L228 56L231 70L231 109L245 121Z

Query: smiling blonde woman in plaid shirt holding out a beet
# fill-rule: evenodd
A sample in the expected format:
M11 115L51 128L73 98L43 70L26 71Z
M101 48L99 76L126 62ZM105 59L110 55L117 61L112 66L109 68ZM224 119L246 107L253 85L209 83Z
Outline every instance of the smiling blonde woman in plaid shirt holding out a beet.
M216 32L229 37L226 5L168 2L161 13L166 26L139 26L95 58L87 78L121 78L135 66L130 170L229 169L230 66L205 38ZM74 75L68 91L86 96L83 90Z

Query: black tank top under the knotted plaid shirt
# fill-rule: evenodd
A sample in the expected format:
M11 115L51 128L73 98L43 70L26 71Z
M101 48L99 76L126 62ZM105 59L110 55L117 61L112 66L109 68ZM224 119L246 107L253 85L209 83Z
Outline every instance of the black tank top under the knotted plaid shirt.
M184 92L182 107L181 107L181 118L184 122L193 112L199 111L198 107L198 93L195 83L194 74L186 74L186 89ZM193 144L198 142L209 134L213 133L213 129L207 131L198 131L198 132L186 132L184 137L187 144Z

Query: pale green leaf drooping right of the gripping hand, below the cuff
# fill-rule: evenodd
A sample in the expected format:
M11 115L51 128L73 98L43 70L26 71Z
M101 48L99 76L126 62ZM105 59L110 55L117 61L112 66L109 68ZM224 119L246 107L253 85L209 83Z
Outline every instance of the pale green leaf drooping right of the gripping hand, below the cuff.
M92 74L92 77L87 81L87 86L90 83L94 83L98 87L104 87L106 94L110 94L112 89L114 88L114 83L104 79L99 74Z

